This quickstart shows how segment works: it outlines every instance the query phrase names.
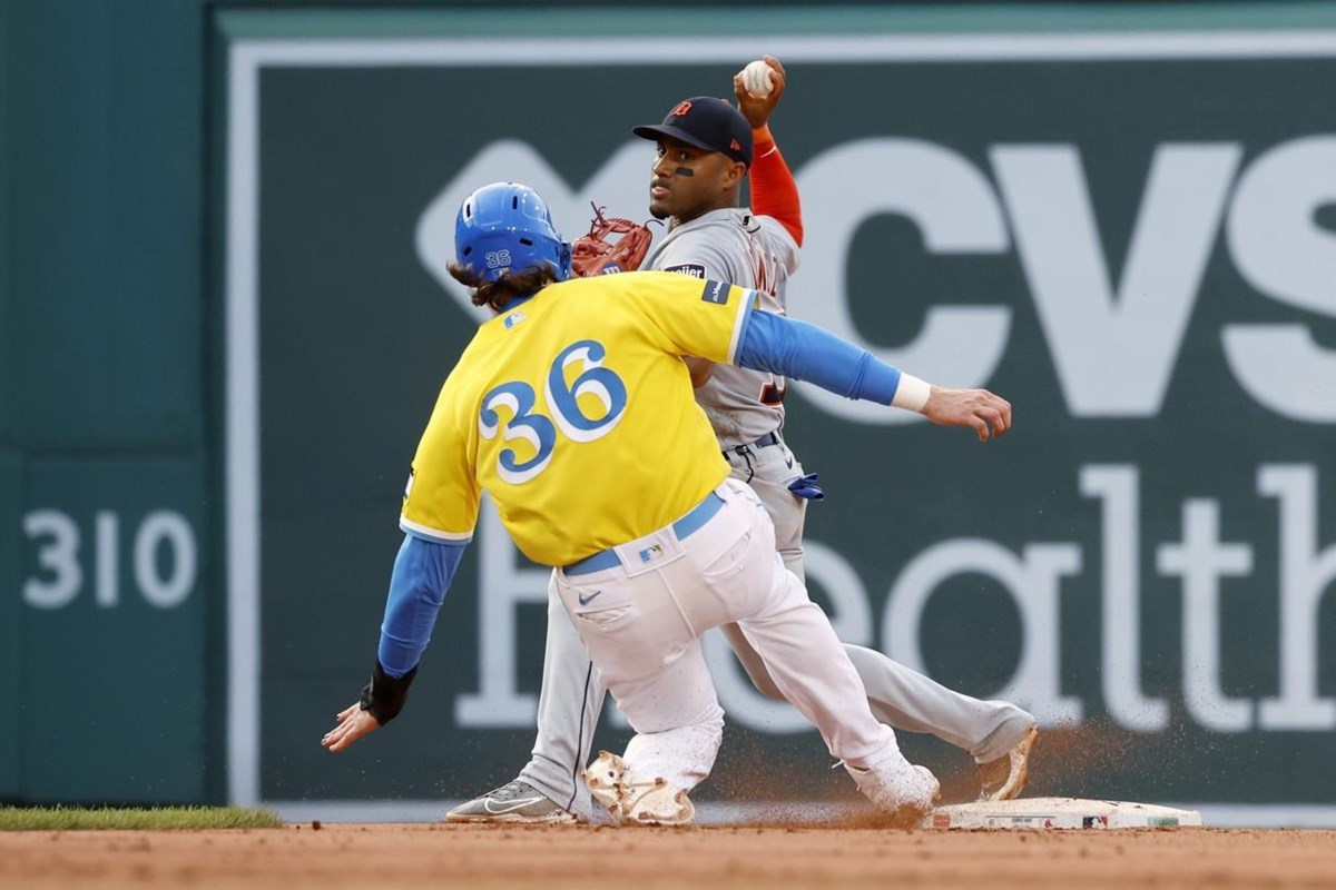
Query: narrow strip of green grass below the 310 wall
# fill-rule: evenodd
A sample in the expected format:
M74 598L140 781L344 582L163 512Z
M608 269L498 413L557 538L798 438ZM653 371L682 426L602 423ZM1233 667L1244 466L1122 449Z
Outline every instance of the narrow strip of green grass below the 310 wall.
M0 831L172 831L277 829L273 810L223 806L171 807L0 807Z

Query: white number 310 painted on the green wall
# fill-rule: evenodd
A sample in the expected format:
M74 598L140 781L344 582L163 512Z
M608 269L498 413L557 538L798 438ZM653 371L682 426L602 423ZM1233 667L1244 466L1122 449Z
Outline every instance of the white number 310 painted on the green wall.
M23 582L23 602L33 608L64 608L84 587L79 559L79 524L59 510L33 510L23 530L36 546L36 576ZM167 559L159 562L159 550ZM120 515L110 510L94 516L94 598L102 607L120 602ZM139 592L151 606L172 608L195 588L195 532L174 510L144 516L135 530L130 556Z

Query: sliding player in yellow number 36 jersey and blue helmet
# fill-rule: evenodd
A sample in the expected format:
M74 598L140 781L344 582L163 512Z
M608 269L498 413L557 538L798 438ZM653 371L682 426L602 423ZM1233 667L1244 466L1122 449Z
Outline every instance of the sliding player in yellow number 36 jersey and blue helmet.
M406 532L371 682L338 715L331 751L403 706L486 491L530 559L556 567L561 602L636 735L601 754L591 791L615 818L681 825L723 734L700 634L737 623L786 698L820 730L859 790L912 823L937 779L900 754L824 614L775 551L756 495L692 399L683 356L740 364L935 423L1001 435L1011 407L933 387L834 335L754 312L752 291L681 275L569 279L569 244L532 189L470 195L453 274L497 318L446 379L405 495Z

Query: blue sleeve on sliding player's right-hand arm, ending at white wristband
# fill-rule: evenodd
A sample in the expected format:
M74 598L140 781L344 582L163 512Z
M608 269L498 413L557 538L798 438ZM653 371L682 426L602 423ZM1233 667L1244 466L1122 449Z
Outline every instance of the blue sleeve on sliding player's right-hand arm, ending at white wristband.
M880 404L890 404L900 386L899 370L867 350L807 322L772 312L748 316L736 364Z

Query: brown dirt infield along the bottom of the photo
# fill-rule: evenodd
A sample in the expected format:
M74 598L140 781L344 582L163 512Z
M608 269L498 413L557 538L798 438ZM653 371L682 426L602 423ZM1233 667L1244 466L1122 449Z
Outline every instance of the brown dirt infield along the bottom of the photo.
M1331 887L1336 831L294 825L0 835L0 886Z

